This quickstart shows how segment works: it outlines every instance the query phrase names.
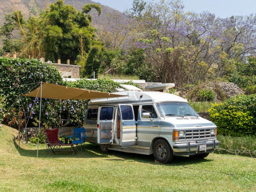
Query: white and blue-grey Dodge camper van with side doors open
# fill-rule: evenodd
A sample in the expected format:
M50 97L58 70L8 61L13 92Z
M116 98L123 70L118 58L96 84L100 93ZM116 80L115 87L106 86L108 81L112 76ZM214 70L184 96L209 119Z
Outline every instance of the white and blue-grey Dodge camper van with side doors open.
M123 86L126 90L115 92L122 97L89 101L85 141L98 143L103 152L154 154L160 163L171 162L174 155L204 158L219 146L216 125L187 100L159 92L157 86L150 91Z

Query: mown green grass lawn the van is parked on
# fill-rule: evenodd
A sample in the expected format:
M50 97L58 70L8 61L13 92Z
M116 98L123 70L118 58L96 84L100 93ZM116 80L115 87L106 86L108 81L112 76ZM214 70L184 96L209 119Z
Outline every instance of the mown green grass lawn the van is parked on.
M110 151L95 144L77 156L71 152L48 157L45 145L18 145L16 130L0 128L0 191L255 191L256 159L210 154L205 159L174 157L156 164L154 156ZM184 168L189 167L193 169ZM205 169L214 172L205 172Z

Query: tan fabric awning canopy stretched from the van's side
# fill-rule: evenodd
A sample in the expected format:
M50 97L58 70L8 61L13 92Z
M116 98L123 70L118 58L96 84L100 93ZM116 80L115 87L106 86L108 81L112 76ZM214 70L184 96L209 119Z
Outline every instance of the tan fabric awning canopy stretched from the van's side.
M24 96L40 98L41 85L34 91L31 91ZM85 89L77 89L56 84L43 83L42 84L42 98L47 99L73 99L73 100L88 100L100 99L110 97L123 97L124 95L117 95L113 93L105 93L98 91L90 91Z

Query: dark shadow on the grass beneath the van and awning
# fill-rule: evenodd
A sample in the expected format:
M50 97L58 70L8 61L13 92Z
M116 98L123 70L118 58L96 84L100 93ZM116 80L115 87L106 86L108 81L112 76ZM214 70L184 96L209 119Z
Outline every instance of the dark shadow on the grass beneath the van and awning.
M14 141L14 145L16 149L18 149L18 144ZM66 149L66 148L65 148ZM67 148L68 149L68 148ZM67 150L66 149L66 150ZM21 156L29 156L36 157L37 148L35 149L23 149L19 148L19 153ZM108 150L108 153L100 152L100 149L97 144L86 143L84 145L84 150L82 153L77 153L77 155L72 156L72 151L63 151L56 152L56 155L51 154L50 158L104 158L106 161L128 161L128 162L140 162L140 163L148 163L148 164L156 164L154 155L142 155L135 153L126 153L121 151L113 151ZM38 156L48 158L49 152L46 149L39 149ZM109 158L112 157L113 158ZM108 158L106 158L108 157ZM189 165L189 164L198 164L202 162L211 162L212 159L197 159L190 158L188 156L174 156L172 162L170 164L163 164L164 166L177 166L177 165Z

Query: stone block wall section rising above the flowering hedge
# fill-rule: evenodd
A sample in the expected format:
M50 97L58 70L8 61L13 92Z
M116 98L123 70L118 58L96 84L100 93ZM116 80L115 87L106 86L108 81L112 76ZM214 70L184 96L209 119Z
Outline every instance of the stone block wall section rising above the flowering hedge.
M48 65L53 65L58 69L62 77L79 78L79 65L67 65L67 64L57 64L57 63L46 63Z

